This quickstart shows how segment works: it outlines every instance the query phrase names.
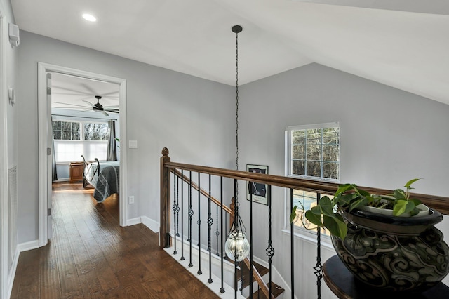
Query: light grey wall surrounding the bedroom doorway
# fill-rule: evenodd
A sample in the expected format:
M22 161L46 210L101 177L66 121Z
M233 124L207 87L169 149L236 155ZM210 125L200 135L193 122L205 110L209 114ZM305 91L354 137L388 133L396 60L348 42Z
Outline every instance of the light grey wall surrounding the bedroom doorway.
M29 32L20 32L18 126L19 242L38 239L37 62L127 80L128 218L159 222L159 158L229 167L234 155L234 90L168 69L145 65ZM230 127L232 126L232 127ZM128 144L121 140L121 147ZM206 147L204 145L207 145Z

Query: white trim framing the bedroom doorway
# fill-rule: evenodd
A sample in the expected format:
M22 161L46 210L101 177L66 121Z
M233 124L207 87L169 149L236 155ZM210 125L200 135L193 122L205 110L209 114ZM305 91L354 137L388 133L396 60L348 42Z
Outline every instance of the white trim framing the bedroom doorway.
M79 69L71 69L68 67L61 67L59 65L50 65L44 62L38 62L37 74L37 109L38 109L38 139L39 139L39 247L45 246L48 243L48 202L47 202L47 187L48 170L47 170L47 145L48 145L48 131L47 123L48 117L51 113L47 110L47 83L46 74L60 73L76 77L83 77L86 79L100 80L113 84L119 84L119 105L120 105L120 140L126 144L126 79L110 77L103 74L95 74ZM128 185L126 181L126 147L120 147L120 178L119 178L119 208L120 216L119 222L121 226L126 226L128 220L127 205L128 202Z

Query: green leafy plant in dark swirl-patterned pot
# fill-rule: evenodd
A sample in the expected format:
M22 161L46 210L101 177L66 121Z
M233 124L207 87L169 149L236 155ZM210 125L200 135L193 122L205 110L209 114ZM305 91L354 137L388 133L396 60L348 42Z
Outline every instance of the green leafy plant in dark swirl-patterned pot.
M333 199L321 198L305 217L329 230L337 255L358 280L383 291L424 291L448 274L449 247L434 227L441 213L410 198L417 180L388 195L340 185Z

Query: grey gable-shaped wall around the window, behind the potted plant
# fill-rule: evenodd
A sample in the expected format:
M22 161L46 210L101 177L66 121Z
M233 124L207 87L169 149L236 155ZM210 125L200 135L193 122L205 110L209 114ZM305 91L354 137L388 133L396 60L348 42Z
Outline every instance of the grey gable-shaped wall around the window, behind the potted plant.
M286 126L340 121L340 182L395 189L424 178L416 192L448 196L449 105L316 64L241 86L239 100L242 165L268 165L270 174L284 175ZM281 233L288 211L283 192L273 192L274 265L290 281L290 236ZM241 211L247 213L248 201ZM255 255L267 260L267 206L254 204L253 211ZM448 242L448 216L443 222ZM316 298L316 246L295 243L295 287L305 292L298 298ZM324 260L334 254L325 250ZM326 291L322 298L334 297Z

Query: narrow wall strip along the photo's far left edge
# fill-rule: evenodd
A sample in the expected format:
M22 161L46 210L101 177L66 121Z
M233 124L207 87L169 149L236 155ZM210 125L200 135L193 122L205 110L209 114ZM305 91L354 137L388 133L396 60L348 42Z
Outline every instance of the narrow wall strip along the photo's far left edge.
M16 84L17 76L17 48L12 47L8 38L8 24L14 23L14 15L11 8L11 2L9 0L0 1L0 15L1 15L1 124L0 124L0 218L1 218L1 248L0 248L0 298L6 298L9 290L11 289L11 282L13 279L13 268L8 263L8 234L10 231L14 231L16 223L11 223L9 226L8 215L8 168L11 168L17 164L17 148L18 148L18 136L17 136L17 106L9 105L8 101L8 88L13 87L15 91L18 90L18 84Z

